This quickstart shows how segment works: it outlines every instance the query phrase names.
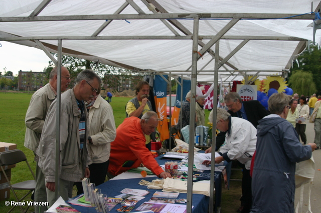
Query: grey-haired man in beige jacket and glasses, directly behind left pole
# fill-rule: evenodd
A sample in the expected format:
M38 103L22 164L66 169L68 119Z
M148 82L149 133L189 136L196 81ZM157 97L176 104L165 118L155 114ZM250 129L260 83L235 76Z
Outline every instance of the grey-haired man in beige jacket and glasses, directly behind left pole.
M71 196L70 188L73 182L89 177L88 112L84 101L89 101L96 95L100 84L101 79L95 72L83 70L77 76L73 89L61 95L59 188L55 183L56 100L49 108L36 151L39 166L45 175L49 206L56 201L55 190L59 190L62 198L67 200L68 196Z

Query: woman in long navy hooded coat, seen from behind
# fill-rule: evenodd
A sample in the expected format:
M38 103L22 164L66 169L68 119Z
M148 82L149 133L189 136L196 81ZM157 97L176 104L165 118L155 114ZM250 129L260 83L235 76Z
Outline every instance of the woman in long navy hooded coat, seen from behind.
M287 120L290 97L271 95L270 115L259 120L252 175L251 212L294 212L295 163L307 160L315 143L303 146Z

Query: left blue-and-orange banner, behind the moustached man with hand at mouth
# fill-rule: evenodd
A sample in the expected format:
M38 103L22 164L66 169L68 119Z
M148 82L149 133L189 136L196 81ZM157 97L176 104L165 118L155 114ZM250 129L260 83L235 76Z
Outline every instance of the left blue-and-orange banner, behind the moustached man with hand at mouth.
M163 75L166 79L167 75ZM166 116L166 95L167 95L167 82L159 75L155 75L154 79L154 98L156 105L156 112L158 118L161 120L158 122L157 130L161 134L161 141L170 138L169 127L167 125L167 116Z

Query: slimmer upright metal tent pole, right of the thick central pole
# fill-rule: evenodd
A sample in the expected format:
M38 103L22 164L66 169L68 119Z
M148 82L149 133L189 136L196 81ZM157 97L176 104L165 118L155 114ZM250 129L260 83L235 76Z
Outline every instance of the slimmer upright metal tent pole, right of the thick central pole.
M219 53L220 50L220 40L215 44L215 52ZM219 209L214 209L214 179L215 179L215 148L216 148L216 114L217 114L217 85L218 85L218 67L219 67L219 55L215 56L215 65L214 65L214 88L213 88L213 125L212 125L212 154L211 154L211 181L210 181L210 211L209 212L220 212ZM213 149L214 148L214 149ZM213 160L214 159L214 160ZM217 181L221 181L218 179Z

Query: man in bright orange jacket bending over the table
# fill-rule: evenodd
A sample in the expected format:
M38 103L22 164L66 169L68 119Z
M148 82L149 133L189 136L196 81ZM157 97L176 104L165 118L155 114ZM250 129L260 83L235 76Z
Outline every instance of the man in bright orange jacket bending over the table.
M145 146L145 136L155 131L158 124L157 114L146 112L141 119L126 118L116 129L116 138L111 143L108 176L116 176L141 163L161 178L172 177L165 172Z

